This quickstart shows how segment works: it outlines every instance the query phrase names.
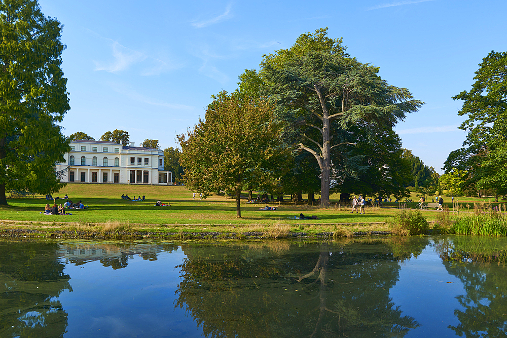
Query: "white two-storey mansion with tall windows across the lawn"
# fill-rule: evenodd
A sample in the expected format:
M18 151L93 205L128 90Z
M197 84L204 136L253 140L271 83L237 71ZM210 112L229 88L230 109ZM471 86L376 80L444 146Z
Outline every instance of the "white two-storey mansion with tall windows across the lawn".
M164 152L160 149L136 147L134 143L76 140L70 142L65 163L57 163L56 171L64 170L65 182L172 184L172 172L164 170Z

